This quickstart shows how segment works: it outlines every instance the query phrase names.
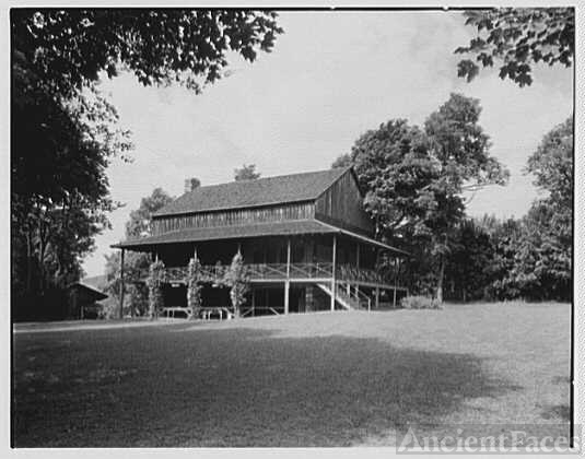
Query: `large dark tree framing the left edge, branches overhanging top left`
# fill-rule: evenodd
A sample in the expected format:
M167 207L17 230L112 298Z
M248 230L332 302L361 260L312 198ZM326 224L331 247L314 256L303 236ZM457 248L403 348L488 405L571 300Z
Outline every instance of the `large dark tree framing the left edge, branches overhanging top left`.
M229 52L254 61L280 33L276 14L265 11L11 10L13 304L21 292L38 296L49 283L63 286L49 258L59 257L61 267L74 259L67 270L77 278L93 237L108 225L114 203L105 170L131 144L100 94L100 78L127 70L144 85L199 92L226 73ZM60 221L84 244L49 244L62 226L51 222Z

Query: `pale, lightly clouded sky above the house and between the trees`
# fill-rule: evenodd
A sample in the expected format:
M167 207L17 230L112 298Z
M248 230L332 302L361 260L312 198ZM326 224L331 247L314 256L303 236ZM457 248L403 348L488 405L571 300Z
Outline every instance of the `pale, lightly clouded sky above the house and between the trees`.
M188 177L231 181L250 163L262 176L329 168L366 130L395 118L422 125L452 92L480 99L491 154L511 172L507 186L477 192L468 214L522 216L538 197L523 169L572 114L573 69L539 67L523 89L496 70L467 83L453 51L475 34L460 12L282 12L272 52L251 64L232 56L231 75L200 95L144 87L131 74L103 81L134 150L131 163L115 158L108 168L112 197L125 205L96 237L87 275L104 273L109 246L154 188L179 196Z

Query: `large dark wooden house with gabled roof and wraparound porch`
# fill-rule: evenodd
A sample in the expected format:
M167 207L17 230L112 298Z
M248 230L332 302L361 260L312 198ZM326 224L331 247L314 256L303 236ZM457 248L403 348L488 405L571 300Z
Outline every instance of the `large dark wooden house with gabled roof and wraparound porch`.
M194 254L206 273L203 307L230 306L218 280L239 250L250 283L245 315L373 309L403 294L405 252L374 238L362 202L352 168L199 187L152 215L151 236L114 247L122 260L136 250L164 262L168 307L187 306Z

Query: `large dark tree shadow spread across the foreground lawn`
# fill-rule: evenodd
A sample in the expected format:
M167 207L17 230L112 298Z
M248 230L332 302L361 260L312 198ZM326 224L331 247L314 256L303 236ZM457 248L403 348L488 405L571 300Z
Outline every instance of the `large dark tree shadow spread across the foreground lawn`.
M15 446L348 446L518 389L473 355L377 339L243 328L65 336L67 348L63 336L15 343Z

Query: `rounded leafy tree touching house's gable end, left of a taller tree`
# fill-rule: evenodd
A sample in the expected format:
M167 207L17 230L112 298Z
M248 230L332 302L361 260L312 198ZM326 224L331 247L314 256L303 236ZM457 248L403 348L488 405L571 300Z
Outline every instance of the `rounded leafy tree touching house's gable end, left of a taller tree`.
M364 207L377 237L408 250L405 279L411 291L431 293L435 268L431 262L432 237L438 224L436 209L446 196L437 187L438 169L425 133L403 119L390 120L362 134L350 155L334 165L353 165L366 191ZM460 212L452 199L451 209Z

